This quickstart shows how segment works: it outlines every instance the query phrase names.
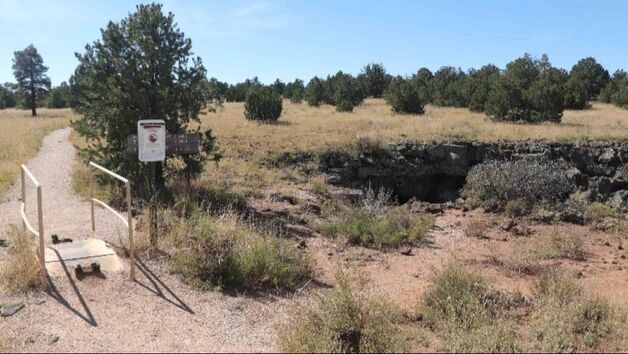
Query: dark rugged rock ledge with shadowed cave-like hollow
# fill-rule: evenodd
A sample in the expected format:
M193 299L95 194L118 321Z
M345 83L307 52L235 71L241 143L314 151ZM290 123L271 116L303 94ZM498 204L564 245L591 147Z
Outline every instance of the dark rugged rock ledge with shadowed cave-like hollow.
M591 201L628 211L628 142L623 141L402 141L359 155L330 151L321 155L320 167L338 185L384 186L402 202L411 198L444 202L459 197L474 165L523 158L566 162L577 190Z

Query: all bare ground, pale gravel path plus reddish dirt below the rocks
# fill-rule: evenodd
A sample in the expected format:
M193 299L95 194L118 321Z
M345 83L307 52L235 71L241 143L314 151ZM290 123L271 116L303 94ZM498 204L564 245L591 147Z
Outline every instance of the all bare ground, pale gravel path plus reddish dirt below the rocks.
M57 232L79 238L89 232L89 208L70 187L69 174L75 162L67 135L68 130L49 135L29 167L45 188L46 234ZM19 220L18 189L14 186L0 204L2 228ZM104 224L107 219L113 218L99 211L100 230L116 228ZM474 219L493 220L488 238L465 235L465 223ZM514 236L499 227L504 220L481 211L448 210L437 217L430 242L413 248L409 255L400 252L407 249L379 252L348 247L320 236L305 241L319 283L333 284L339 270L360 274L375 292L412 311L434 272L450 261L462 262L488 276L498 288L529 294L535 277L513 273L499 261L543 242L555 232L578 235L584 241L585 259L552 263L589 292L628 306L628 263L623 249L627 245L622 244L622 238L588 226L534 223L526 224L531 234ZM0 256L3 252L0 248ZM123 261L128 269L128 260ZM51 279L49 293L10 299L24 301L26 307L12 317L0 318L0 333L10 340L10 350L26 352L276 351L276 324L286 319L287 310L294 304L311 291L320 290L311 286L288 297L199 291L171 275L165 262L139 262L138 267L137 282L131 282L127 273L74 281L68 270L67 277ZM45 302L37 305L34 299Z

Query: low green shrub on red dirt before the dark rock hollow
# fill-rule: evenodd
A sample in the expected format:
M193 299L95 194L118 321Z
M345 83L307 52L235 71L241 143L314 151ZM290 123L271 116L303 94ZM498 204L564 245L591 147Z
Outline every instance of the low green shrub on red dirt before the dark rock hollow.
M433 225L431 215L413 215L401 210L374 215L358 210L337 220L321 222L318 229L326 235L345 237L353 245L388 249L418 244Z

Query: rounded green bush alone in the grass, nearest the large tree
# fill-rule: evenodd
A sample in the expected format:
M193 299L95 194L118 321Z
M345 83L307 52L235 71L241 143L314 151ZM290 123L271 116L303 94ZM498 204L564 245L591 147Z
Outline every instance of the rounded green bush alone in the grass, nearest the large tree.
M244 116L249 120L275 122L281 115L281 96L270 87L252 89L246 95Z

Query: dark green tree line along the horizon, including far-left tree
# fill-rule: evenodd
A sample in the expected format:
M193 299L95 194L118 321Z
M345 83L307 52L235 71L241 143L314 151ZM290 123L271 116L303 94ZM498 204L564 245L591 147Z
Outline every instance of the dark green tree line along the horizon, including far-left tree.
M51 87L48 67L32 44L14 53L12 68L16 82L0 84L0 109L31 109L35 116L37 107L76 105L74 75L69 84ZM338 71L325 78L315 76L307 84L277 79L265 85L257 77L228 84L212 77L204 79L203 86L214 101L245 102L259 91L256 102L276 102L279 97L310 106L329 104L339 112L353 111L367 97L384 98L399 114L422 114L426 104L433 104L527 122L560 122L564 109L587 109L592 100L628 109L628 74L617 70L611 76L593 57L579 60L570 71L552 66L547 55L535 59L524 54L504 69L487 64L467 71L443 66L432 72L423 67L404 77L389 74L381 63L370 63L356 76Z

